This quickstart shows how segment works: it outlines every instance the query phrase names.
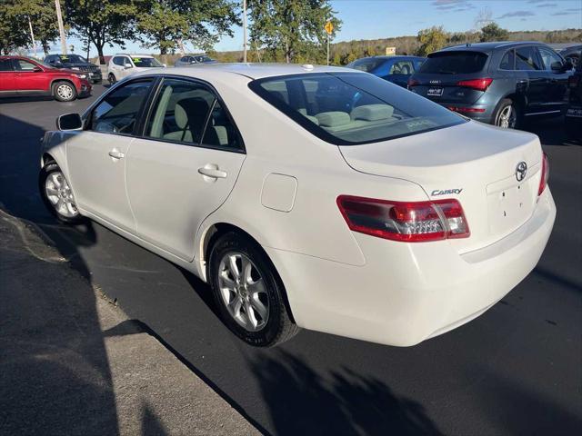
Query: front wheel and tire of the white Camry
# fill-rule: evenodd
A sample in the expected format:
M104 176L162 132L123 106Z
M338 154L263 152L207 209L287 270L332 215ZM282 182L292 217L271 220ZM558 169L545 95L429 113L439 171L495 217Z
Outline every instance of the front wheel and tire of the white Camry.
M56 180L60 179L61 186ZM50 213L65 224L79 224L85 221L76 208L75 197L61 168L55 162L46 163L38 174L40 196ZM53 195L50 193L54 192Z

